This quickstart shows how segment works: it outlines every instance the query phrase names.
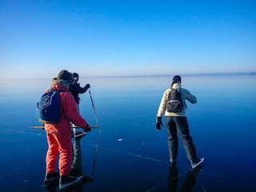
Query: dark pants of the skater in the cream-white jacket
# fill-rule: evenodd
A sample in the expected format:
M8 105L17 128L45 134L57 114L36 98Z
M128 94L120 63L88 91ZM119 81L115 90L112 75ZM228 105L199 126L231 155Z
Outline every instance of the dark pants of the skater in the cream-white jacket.
M198 156L192 138L190 137L190 130L186 117L166 116L166 129L168 134L170 162L174 162L178 156L177 131L186 150L187 158L190 162L195 162L198 159Z

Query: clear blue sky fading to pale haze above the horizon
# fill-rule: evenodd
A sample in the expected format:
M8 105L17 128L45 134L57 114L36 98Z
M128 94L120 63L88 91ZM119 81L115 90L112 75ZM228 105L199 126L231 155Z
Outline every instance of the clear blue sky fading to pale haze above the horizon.
M256 71L256 1L0 0L0 78Z

